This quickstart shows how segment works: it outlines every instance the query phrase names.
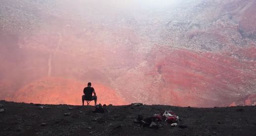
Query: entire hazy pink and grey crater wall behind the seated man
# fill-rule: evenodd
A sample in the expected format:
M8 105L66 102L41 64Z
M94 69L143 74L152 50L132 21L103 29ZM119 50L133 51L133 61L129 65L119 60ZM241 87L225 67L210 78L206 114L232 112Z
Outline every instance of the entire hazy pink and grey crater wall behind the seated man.
M90 81L107 104L254 104L255 5L3 0L0 99L79 105Z

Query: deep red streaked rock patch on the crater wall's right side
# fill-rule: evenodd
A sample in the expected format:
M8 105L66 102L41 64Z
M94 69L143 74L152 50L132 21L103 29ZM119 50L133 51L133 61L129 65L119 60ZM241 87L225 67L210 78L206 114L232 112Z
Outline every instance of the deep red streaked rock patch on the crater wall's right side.
M254 48L255 49L255 48ZM250 49L248 49L249 51ZM168 51L165 49L161 52ZM199 53L171 50L155 65L153 75L161 74L166 83L163 90L170 93L168 102L185 106L225 105L239 92L254 90L255 62L240 61L220 53ZM247 69L247 70L244 70ZM162 94L166 92L161 91ZM196 99L196 101L195 101ZM201 103L204 102L204 103ZM225 103L225 104L224 104Z

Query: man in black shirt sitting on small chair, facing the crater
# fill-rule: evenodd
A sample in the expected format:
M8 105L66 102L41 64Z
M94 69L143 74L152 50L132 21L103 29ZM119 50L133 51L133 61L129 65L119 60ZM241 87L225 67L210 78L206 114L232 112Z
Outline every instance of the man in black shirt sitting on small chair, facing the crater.
M89 82L87 84L87 87L85 87L83 89L83 93L84 93L84 95L82 96L83 105L84 105L84 101L92 101L92 100L94 100L95 105L97 104L97 96L96 96L94 88L91 87L91 85L92 85L92 83ZM94 94L94 96L92 96L92 93ZM87 105L88 105L88 103L87 103Z

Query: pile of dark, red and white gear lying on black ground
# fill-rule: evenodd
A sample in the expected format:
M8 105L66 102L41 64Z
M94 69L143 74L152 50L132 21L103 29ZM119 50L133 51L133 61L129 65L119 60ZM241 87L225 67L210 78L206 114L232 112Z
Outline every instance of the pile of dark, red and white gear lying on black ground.
M138 115L138 118L134 120L134 123L139 123L141 126L149 126L150 128L162 127L161 122L165 121L171 126L178 126L180 118L171 110L165 110L163 113L153 114L148 118L143 118L142 115ZM182 124L182 126L184 126Z

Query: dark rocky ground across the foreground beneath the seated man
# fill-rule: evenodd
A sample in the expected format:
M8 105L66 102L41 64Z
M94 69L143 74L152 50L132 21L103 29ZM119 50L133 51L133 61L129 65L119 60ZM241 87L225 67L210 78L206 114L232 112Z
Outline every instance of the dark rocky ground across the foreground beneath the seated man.
M0 112L0 136L256 136L256 106L124 105L106 106L109 112L93 113L94 106L6 101L0 104L4 109ZM160 122L163 126L156 129L133 122L138 115L149 117L168 109L173 110L187 128ZM67 112L71 114L65 116Z

